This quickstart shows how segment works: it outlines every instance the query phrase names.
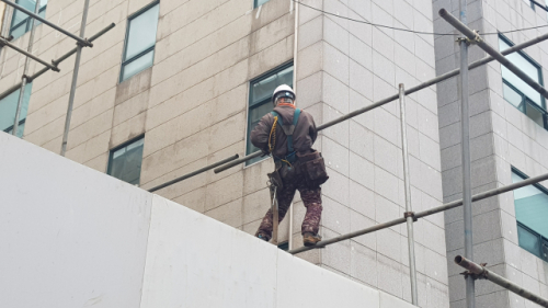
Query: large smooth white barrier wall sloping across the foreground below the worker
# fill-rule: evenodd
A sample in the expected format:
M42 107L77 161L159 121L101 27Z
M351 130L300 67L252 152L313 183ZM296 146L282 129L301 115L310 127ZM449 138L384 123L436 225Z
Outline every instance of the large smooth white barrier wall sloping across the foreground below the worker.
M1 307L413 307L0 133Z

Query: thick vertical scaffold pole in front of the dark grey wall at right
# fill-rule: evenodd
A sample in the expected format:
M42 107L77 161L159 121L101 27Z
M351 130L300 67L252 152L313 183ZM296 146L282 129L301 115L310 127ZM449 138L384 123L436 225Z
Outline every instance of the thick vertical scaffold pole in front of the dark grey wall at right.
M466 0L459 2L460 22L467 24ZM463 207L465 225L465 258L472 260L472 197L470 185L470 114L468 106L468 42L466 37L460 42L460 124L463 150ZM473 277L466 278L466 307L476 307L476 292Z

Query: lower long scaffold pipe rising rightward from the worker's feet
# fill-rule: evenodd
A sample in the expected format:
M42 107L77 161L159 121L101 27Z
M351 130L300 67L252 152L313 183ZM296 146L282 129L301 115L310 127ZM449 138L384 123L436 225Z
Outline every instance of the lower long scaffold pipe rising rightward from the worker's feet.
M535 183L538 183L538 182L541 182L541 181L546 181L546 180L548 180L548 173L543 174L543 175L538 175L538 176L535 176L535 178L529 178L527 180L523 180L522 182L513 183L513 184L510 184L510 185L506 185L506 186L502 186L502 187L499 187L499 189L493 189L493 190L490 190L490 191L487 191L487 192L483 192L483 193L476 194L476 195L472 196L472 201L473 202L481 201L481 199L484 199L484 198L488 198L488 197L492 197L492 196L495 196L495 195L507 193L510 191L517 190L517 189L521 189L521 187L524 187L524 186L527 186L527 185L530 185L530 184L535 184ZM437 214L437 213L442 213L442 212L445 212L445 210L448 210L448 209L452 209L452 208L455 208L455 207L459 207L461 205L463 205L463 199L457 199L457 201L444 204L442 206L437 206L437 207L433 207L431 209L426 209L426 210L423 210L423 212L415 213L414 214L414 218L415 219L423 218L423 217L426 217L426 216L430 216L430 215L434 215L434 214ZM296 253L305 252L305 251L317 249L317 248L324 248L326 246L329 246L329 244L332 244L332 243L335 243L335 242L340 242L340 241L343 241L343 240L352 239L352 238L359 237L359 236L363 236L363 235L367 235L367 233L370 233L370 232L374 232L374 231L378 231L378 230L381 230L381 229L390 228L390 227L393 227L396 225L403 224L406 221L407 221L406 218L398 218L398 219L390 220L390 221L387 221L387 223L384 223L384 224L379 224L379 225L376 225L376 226L373 226L373 227L369 227L369 228L357 230L357 231L354 231L354 232L351 232L351 233L347 233L347 235L342 235L342 236L339 236L339 237L335 237L335 238L332 238L332 239L329 239L329 240L319 241L318 243L316 243L316 246L312 246L312 247L300 247L300 248L297 248L297 249L294 249L294 250L289 250L288 252L292 253L292 254L296 254Z

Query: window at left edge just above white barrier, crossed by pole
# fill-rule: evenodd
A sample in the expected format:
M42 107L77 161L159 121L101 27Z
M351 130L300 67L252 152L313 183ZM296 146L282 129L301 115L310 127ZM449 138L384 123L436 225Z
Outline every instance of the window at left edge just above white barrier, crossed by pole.
M23 95L23 104L21 105L21 115L19 116L18 137L23 137L25 129L26 111L28 110L28 101L31 100L32 83L25 87ZM15 124L15 113L18 111L19 93L21 90L11 92L8 96L0 100L0 130L8 134L12 133L13 124Z

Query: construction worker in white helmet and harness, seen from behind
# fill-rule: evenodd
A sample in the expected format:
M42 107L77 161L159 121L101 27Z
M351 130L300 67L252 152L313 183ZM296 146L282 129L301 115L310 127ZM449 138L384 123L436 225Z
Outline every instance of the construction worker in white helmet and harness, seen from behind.
M282 84L274 90L274 111L264 115L251 132L251 142L264 155L272 155L275 171L269 173L276 185L278 221L284 219L295 191L298 190L307 213L301 233L305 246L315 246L321 240L318 235L321 218L320 184L329 176L321 155L312 149L318 132L312 116L295 107L295 92ZM265 241L272 238L273 213L266 212L255 236Z

